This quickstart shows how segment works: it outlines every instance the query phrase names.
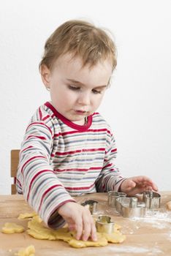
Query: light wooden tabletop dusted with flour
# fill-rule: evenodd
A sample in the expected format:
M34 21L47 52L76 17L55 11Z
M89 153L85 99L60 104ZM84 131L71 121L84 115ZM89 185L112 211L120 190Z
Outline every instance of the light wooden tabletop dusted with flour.
M108 214L121 225L126 235L123 244L109 244L104 247L88 247L75 249L63 241L37 240L27 233L0 233L0 255L9 256L18 252L21 247L33 244L36 256L137 256L137 255L171 255L171 211L166 211L165 203L171 200L171 192L161 193L161 208L151 211L142 219L126 219L107 207L107 194L96 193L77 197L78 202L88 199L99 201L99 214ZM31 212L22 195L0 195L0 230L5 222L15 222L27 227L28 220L18 220L20 213Z

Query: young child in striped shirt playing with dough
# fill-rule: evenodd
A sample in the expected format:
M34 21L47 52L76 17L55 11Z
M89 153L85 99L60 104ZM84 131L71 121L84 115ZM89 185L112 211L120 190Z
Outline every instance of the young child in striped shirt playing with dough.
M157 190L148 177L121 176L113 132L96 113L115 66L115 44L103 29L81 20L59 26L39 64L51 101L32 116L20 149L18 193L49 227L67 222L84 241L96 241L94 219L72 196Z

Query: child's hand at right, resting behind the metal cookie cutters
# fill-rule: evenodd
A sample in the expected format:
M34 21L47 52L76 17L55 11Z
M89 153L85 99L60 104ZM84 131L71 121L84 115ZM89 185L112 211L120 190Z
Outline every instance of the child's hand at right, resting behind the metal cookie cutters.
M126 180L122 182L120 190L129 196L133 196L146 190L158 191L158 188L150 178L146 176L135 176L126 178Z

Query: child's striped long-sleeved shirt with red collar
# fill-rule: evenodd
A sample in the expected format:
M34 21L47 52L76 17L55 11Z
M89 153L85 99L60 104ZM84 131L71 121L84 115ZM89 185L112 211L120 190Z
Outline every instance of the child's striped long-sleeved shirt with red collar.
M50 102L39 107L21 144L16 186L50 227L64 224L58 208L72 196L118 190L115 139L99 113L74 124Z

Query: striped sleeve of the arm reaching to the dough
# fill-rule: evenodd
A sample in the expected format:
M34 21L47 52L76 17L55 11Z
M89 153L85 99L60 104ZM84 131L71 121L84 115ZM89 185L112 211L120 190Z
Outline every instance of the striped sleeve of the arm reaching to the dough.
M64 219L56 210L62 204L75 200L66 192L50 166L53 138L52 124L40 120L28 125L20 150L17 188L46 225L58 228L64 225Z

